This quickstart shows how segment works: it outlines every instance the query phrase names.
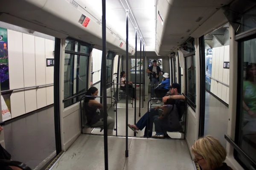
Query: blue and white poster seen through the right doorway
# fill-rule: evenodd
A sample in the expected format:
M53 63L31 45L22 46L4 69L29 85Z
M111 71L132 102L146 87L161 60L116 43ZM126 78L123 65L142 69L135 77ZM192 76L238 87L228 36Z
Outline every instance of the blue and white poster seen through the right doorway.
M211 77L212 75L212 48L205 50L205 88L211 90Z

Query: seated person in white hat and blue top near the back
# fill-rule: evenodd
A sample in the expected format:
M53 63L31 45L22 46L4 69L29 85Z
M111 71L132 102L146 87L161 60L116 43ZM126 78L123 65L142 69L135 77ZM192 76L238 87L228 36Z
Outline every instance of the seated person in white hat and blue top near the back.
M170 89L170 79L169 79L169 74L165 73L163 74L163 80L160 85L157 86L157 88L154 90L156 97L161 98L165 96L165 94L169 91Z

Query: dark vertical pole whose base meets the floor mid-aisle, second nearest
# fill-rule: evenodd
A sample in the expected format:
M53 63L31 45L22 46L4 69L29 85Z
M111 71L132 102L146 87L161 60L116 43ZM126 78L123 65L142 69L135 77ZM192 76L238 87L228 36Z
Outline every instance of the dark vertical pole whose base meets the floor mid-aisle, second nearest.
M125 157L129 156L128 153L128 50L129 50L129 43L128 43L128 31L129 31L129 27L128 27L128 15L129 15L129 10L126 9L126 79L127 81L125 81L125 90L126 90L126 137L125 137Z

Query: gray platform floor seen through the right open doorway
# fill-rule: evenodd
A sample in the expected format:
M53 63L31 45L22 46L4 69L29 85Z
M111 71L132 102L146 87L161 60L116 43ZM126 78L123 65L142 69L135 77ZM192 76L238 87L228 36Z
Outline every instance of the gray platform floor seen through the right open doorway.
M228 108L214 96L205 91L204 136L212 135L226 147L224 134L227 132Z

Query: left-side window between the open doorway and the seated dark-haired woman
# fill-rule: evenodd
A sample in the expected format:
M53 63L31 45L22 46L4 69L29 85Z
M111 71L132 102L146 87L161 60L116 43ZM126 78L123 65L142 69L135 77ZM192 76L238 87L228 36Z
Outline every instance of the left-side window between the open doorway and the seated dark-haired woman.
M66 40L64 63L64 99L87 91L90 45ZM64 108L79 102L81 96L64 102Z

